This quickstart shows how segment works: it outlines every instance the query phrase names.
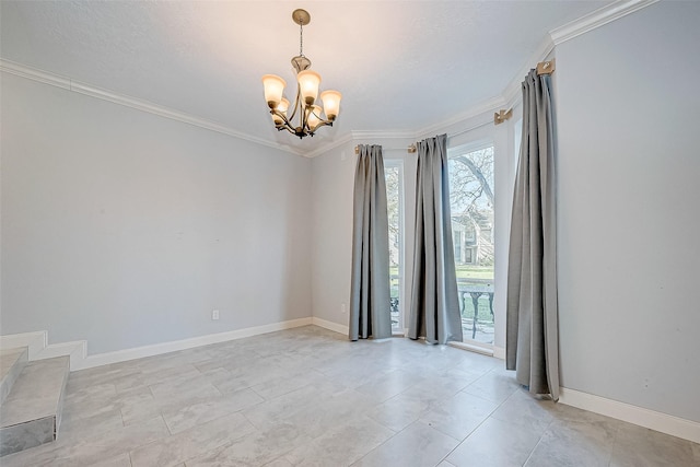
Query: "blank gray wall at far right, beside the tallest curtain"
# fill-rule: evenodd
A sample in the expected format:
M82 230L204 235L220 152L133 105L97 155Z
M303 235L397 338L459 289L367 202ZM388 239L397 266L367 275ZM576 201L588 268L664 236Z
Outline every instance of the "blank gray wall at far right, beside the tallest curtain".
M562 385L700 421L700 3L557 47Z

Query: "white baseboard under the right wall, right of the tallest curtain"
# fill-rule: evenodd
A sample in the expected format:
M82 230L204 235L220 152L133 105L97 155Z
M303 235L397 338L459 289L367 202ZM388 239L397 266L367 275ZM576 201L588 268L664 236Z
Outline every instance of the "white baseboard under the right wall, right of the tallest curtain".
M561 387L559 390L561 404L700 443L700 423L698 422L575 389Z

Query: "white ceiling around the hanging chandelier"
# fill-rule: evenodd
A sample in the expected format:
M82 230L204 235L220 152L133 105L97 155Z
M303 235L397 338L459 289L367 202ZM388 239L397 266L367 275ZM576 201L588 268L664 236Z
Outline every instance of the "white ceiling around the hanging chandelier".
M548 32L610 3L2 0L0 57L303 153L453 119L534 66ZM275 129L260 81L294 80L296 8L322 89L343 95L334 127L304 140Z

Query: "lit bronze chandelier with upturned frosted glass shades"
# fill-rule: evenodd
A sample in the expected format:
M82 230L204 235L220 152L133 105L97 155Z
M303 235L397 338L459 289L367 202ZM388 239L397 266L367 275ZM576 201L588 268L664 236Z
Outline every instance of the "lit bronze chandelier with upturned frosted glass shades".
M296 98L291 115L288 115L290 102L284 97L287 82L276 74L265 74L265 100L270 107L272 121L278 130L288 130L290 133L304 138L314 136L314 132L323 126L332 126L340 112L340 98L338 91L324 91L320 93L320 105L316 105L320 74L310 70L311 60L304 57L304 26L311 22L311 15L305 10L294 10L292 20L299 24L299 55L292 58L292 67L296 70ZM324 119L322 115L325 114ZM294 124L294 118L298 124Z

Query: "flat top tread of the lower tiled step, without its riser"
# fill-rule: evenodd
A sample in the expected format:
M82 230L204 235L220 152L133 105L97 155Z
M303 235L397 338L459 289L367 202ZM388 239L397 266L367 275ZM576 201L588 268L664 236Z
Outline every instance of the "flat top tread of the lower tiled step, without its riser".
M68 372L68 357L28 362L0 406L0 427L57 416Z

